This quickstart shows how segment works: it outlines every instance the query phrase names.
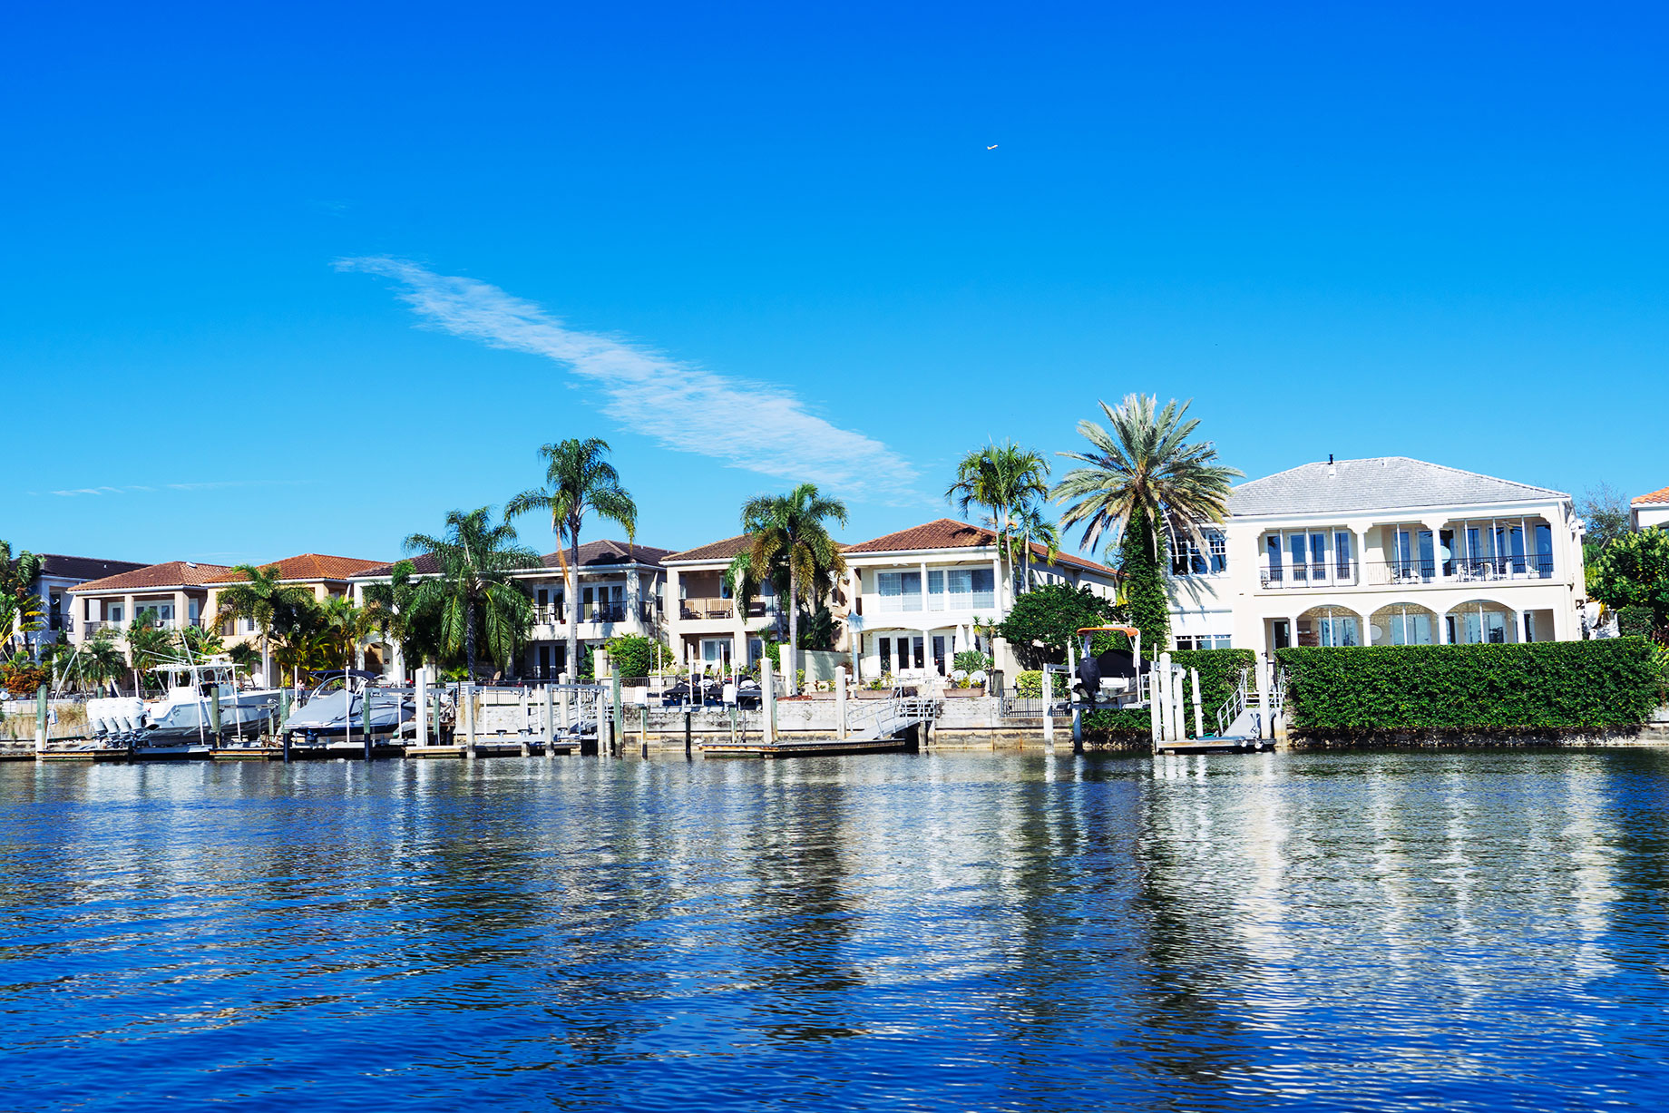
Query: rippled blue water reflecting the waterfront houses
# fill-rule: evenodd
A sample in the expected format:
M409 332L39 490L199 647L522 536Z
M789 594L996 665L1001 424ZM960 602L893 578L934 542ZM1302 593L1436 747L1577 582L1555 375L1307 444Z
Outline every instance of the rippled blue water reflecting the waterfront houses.
M0 1106L1661 1108L1669 754L0 766Z

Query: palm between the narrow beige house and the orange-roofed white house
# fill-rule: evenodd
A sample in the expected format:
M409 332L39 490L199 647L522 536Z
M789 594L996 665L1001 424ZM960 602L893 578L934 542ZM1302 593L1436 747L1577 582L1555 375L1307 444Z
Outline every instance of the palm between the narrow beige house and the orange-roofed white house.
M828 522L846 524L846 504L828 499L816 484L803 482L783 496L758 496L741 507L741 527L753 537L749 567L768 574L778 562L788 567L788 664L783 681L789 696L798 689L799 602L819 601L829 577L846 571L840 544Z

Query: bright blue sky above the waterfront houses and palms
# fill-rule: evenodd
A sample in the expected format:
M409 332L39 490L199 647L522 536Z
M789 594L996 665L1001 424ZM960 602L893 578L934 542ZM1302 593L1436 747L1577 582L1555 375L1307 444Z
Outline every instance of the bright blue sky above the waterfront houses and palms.
M1344 7L17 8L0 537L392 557L601 436L646 544L858 539L1132 390L1669 482L1661 12Z

